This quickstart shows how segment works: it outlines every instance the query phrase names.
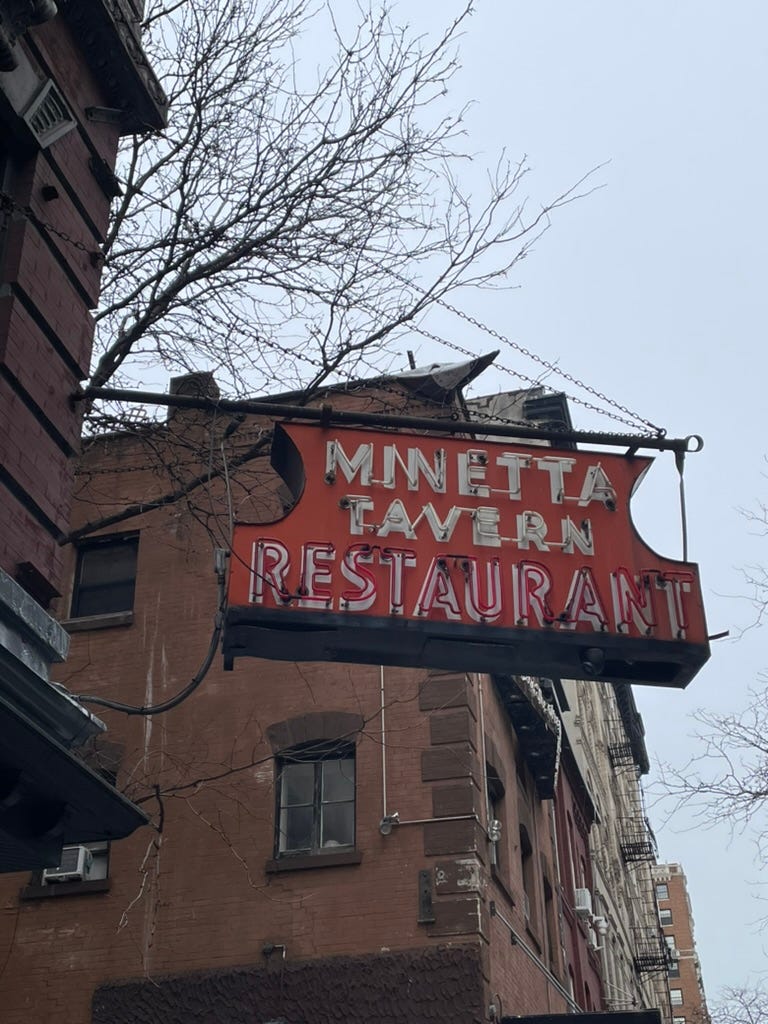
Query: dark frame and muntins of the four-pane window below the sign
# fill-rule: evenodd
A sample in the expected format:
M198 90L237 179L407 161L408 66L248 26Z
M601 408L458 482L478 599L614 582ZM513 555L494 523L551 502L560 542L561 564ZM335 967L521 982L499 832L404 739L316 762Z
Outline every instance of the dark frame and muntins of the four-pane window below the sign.
M352 766L352 796L350 800L324 800L324 764L334 762L348 762ZM309 742L281 751L275 755L275 809L274 809L274 842L273 842L273 863L288 863L291 860L305 861L322 860L325 857L345 857L356 852L356 825L357 825L357 767L356 751L353 742L336 740L331 742ZM283 782L286 768L297 764L313 765L312 779L312 803L284 803ZM339 806L351 804L351 842L333 845L323 844L323 819L324 808L328 806ZM312 819L310 826L309 846L284 849L284 812L288 813L291 807L305 808L311 806Z

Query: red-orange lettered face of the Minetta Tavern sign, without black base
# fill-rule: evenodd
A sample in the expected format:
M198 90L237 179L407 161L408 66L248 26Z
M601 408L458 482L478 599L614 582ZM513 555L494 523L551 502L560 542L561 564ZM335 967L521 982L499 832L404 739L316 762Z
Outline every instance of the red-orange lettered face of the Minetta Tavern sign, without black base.
M391 434L323 456L300 536L251 527L251 605L686 639L694 573L628 520L647 460Z

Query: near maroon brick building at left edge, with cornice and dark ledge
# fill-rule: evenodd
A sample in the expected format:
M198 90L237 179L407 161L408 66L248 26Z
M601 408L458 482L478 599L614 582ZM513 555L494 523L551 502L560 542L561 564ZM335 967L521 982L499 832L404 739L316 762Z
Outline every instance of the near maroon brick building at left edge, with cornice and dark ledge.
M102 728L48 682L100 243L121 134L165 99L129 0L0 0L0 870L125 835L135 808L71 755Z

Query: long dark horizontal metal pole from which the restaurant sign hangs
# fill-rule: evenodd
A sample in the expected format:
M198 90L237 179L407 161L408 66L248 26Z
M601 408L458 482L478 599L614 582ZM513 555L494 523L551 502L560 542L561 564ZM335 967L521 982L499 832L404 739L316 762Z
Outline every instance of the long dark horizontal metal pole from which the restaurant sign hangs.
M599 430L544 430L540 427L511 426L505 423L484 423L460 420L455 415L450 419L432 419L427 416L385 416L381 413L351 412L323 406L310 409L305 406L283 406L280 402L206 398L185 394L162 394L155 391L131 391L123 388L87 387L73 395L75 401L99 399L102 401L127 401L147 406L167 406L172 409L195 409L208 413L245 413L251 416L269 416L285 419L310 420L323 426L403 427L414 430L430 430L433 433L449 434L490 434L495 437L510 437L516 440L548 440L553 443L582 441L586 444L610 444L627 447L629 454L640 449L657 452L700 452L703 440L698 434L688 437L648 437L639 434L611 434ZM693 445L693 446L691 446Z

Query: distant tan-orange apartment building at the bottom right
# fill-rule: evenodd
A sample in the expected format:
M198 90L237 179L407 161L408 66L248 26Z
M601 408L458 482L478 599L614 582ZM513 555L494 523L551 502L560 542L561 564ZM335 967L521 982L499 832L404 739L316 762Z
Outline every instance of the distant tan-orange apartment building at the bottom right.
M669 997L673 1024L710 1024L696 952L685 872L680 864L654 864L658 920L670 948Z

